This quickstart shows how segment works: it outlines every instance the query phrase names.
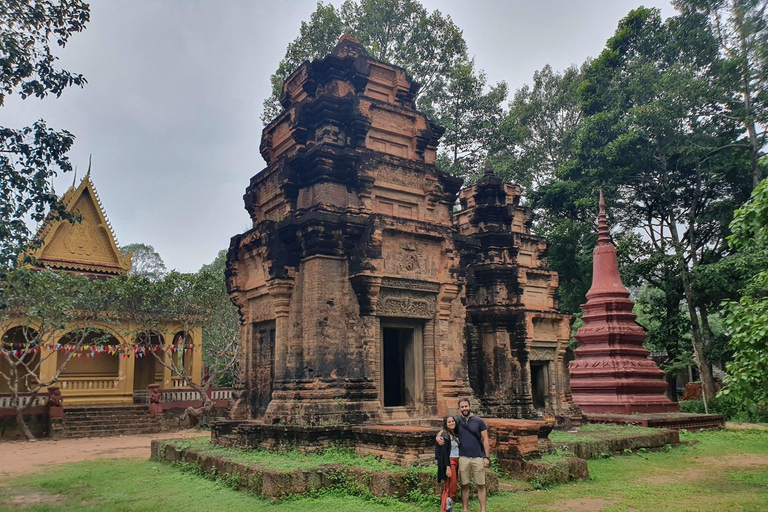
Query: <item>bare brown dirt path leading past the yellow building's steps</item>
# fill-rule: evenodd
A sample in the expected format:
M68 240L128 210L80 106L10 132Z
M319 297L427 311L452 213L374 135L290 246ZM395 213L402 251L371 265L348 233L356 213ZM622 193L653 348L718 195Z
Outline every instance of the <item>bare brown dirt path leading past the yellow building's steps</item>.
M163 434L85 439L10 441L0 443L0 477L44 471L47 466L103 458L149 458L153 439L208 437L209 432L183 430ZM2 478L0 478L2 480Z

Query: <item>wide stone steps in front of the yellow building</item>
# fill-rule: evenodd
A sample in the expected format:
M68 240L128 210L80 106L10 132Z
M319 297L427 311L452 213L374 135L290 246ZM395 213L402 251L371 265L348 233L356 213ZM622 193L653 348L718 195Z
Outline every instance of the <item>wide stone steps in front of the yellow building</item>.
M54 437L104 437L154 434L162 431L160 419L147 405L93 405L65 407L65 417L54 428Z

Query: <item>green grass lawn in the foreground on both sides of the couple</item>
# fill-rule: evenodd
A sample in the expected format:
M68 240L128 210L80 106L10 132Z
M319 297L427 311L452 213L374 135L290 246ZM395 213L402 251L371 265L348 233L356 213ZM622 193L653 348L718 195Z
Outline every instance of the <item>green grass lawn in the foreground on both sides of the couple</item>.
M535 490L502 492L492 512L766 511L768 432L683 433L695 441L668 452L589 461L590 479ZM0 511L416 511L437 507L366 500L327 492L272 502L152 461L101 460L62 465L0 482ZM474 501L470 510L479 507Z

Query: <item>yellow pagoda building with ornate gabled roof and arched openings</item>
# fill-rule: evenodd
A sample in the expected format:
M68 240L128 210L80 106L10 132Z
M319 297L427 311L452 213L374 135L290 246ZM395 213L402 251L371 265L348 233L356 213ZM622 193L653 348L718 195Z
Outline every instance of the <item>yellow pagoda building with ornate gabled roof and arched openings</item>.
M62 202L67 210L80 216L81 221L46 221L38 232L42 243L30 253L35 260L34 267L76 272L93 279L126 274L131 268L131 255L123 256L118 248L115 234L91 181L90 169L77 188L72 186L67 190ZM152 354L141 350L136 340L125 334L135 330L116 329L107 324L91 327L105 333L108 341L104 343L101 341L103 337L100 337L98 351L86 351L81 354L82 357L73 357L67 363L56 383L66 404L133 403L134 394L143 395L150 384L158 384L162 389L187 389L181 378L173 375ZM42 381L49 380L66 358L68 332L74 328L68 326L53 341L53 349L58 349L58 353L42 362ZM3 334L13 337L10 333ZM185 332L180 323L168 322L163 332L152 333L151 336L152 345L158 347L179 346L179 342L185 340L182 347L186 350L166 355L165 360L181 357L187 373L200 382L200 327ZM146 346L146 343L143 345ZM8 392L7 384L0 379L0 395Z

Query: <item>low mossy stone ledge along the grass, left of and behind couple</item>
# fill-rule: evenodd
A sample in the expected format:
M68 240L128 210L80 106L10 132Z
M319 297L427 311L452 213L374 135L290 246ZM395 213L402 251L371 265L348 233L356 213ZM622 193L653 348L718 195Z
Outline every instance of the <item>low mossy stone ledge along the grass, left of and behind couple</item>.
M164 440L152 441L151 459L171 464L190 464L209 476L234 482L239 490L271 499L336 486L361 487L376 497L391 498L406 496L414 490L424 494L442 492L442 484L437 483L434 466L423 471L374 471L342 464L321 464L311 469L281 471L198 453L176 446L173 441ZM486 486L489 493L499 489L498 479L492 471L486 474Z

